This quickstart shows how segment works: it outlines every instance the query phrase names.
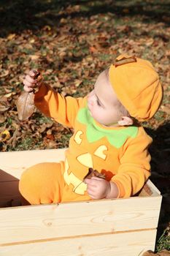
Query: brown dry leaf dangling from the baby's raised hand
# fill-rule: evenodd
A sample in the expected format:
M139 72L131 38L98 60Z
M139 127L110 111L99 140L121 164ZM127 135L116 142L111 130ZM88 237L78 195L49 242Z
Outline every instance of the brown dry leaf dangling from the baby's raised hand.
M34 113L34 92L23 91L17 101L18 118L24 121Z

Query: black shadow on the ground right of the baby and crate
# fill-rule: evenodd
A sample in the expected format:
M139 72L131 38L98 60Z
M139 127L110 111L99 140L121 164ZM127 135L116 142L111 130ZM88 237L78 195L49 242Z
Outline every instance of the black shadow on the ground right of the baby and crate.
M163 195L158 223L159 238L170 222L170 123L163 124L155 131L152 129L146 129L146 131L153 139L150 147L152 156L150 179Z

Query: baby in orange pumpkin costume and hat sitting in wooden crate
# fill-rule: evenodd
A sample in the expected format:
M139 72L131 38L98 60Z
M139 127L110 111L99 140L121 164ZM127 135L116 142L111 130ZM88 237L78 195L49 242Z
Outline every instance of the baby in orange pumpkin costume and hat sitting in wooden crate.
M45 116L74 128L64 162L29 167L20 192L31 204L130 197L150 176L148 147L152 139L141 121L156 113L163 96L149 61L121 55L98 75L87 97L63 97L31 71L25 91L38 87L35 105ZM57 159L57 155L56 155ZM104 178L87 176L89 168Z

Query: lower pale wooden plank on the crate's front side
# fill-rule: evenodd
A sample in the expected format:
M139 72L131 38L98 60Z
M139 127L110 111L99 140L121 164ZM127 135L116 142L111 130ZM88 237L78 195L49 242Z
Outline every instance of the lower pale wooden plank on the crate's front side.
M68 229L68 227L66 227ZM155 249L156 230L84 236L52 241L0 246L3 256L139 256Z

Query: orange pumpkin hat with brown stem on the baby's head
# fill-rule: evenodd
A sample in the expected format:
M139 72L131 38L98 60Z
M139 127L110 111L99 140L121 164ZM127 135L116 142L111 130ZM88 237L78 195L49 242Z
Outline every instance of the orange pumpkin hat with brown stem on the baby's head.
M109 81L122 105L139 121L152 118L161 105L163 89L150 61L120 55L109 67Z

